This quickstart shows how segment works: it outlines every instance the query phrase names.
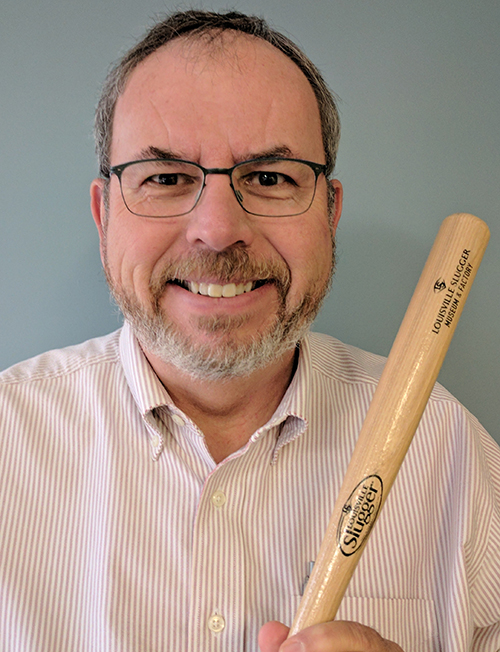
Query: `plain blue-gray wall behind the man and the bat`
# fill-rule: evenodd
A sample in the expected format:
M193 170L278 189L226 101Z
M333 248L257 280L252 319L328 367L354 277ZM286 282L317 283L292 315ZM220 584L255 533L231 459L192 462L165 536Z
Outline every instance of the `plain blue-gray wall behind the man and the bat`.
M160 0L3 0L0 368L120 324L88 187L92 121L112 61ZM442 219L492 237L440 381L500 440L498 0L197 2L265 16L340 98L338 268L315 329L389 352Z

